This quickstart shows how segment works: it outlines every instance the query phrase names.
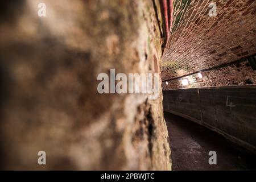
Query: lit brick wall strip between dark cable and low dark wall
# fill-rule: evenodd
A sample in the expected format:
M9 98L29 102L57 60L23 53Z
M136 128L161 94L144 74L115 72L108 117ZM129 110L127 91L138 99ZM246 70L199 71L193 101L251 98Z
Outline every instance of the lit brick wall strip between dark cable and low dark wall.
M229 65L220 69L201 72L203 78L199 78L198 73L163 82L163 90L181 88L199 88L209 86L230 86L256 84L256 71L250 67L247 61ZM188 79L189 85L183 86L182 79Z

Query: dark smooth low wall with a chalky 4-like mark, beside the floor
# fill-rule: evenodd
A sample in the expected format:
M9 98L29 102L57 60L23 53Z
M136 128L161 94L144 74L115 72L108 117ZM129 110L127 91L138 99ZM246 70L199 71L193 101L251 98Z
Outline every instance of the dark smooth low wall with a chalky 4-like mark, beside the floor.
M164 111L256 152L256 86L165 90L163 96Z

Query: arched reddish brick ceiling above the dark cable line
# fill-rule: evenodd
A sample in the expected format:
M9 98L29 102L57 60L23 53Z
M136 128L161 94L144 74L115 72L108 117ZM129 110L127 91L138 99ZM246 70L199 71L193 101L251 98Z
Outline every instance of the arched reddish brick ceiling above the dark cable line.
M208 15L211 2L217 16ZM163 53L162 80L240 60L256 53L256 1L174 1L174 20Z

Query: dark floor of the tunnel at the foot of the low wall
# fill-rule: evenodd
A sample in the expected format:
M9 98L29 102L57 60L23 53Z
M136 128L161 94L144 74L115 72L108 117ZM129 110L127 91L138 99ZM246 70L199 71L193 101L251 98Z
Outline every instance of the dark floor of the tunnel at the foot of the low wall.
M164 113L171 143L172 169L256 170L256 155L195 122ZM209 151L217 152L210 165Z

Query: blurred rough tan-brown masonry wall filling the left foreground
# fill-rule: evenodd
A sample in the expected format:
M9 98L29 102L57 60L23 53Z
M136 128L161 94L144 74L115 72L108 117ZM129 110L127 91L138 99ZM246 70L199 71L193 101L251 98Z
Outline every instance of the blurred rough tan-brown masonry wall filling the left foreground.
M171 169L161 90L97 92L111 68L160 73L154 1L39 2L1 1L1 168Z

